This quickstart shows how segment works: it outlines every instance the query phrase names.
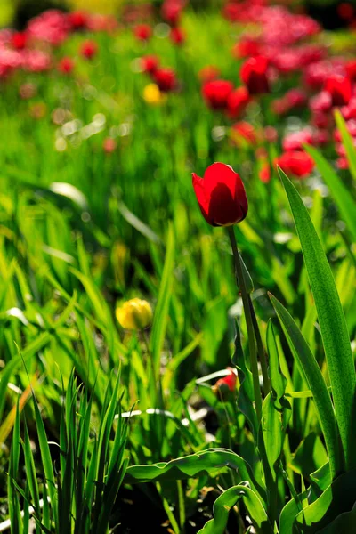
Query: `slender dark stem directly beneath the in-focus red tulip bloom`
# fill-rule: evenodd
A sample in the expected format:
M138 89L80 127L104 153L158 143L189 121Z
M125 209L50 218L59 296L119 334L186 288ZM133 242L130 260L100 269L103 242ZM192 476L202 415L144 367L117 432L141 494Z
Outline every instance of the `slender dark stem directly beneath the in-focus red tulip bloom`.
M242 297L242 303L245 311L245 320L247 325L247 336L248 336L248 350L250 356L250 366L254 382L254 395L255 395L255 410L257 414L258 421L261 421L262 415L262 397L260 389L260 377L258 373L258 364L257 364L257 353L255 346L255 329L254 323L252 320L251 309L249 304L249 295L247 293L247 287L242 271L241 259L239 257L238 244L235 237L235 232L233 226L228 227L229 238L231 242L232 254L234 256L235 262L235 271L236 278L239 285L239 291Z

